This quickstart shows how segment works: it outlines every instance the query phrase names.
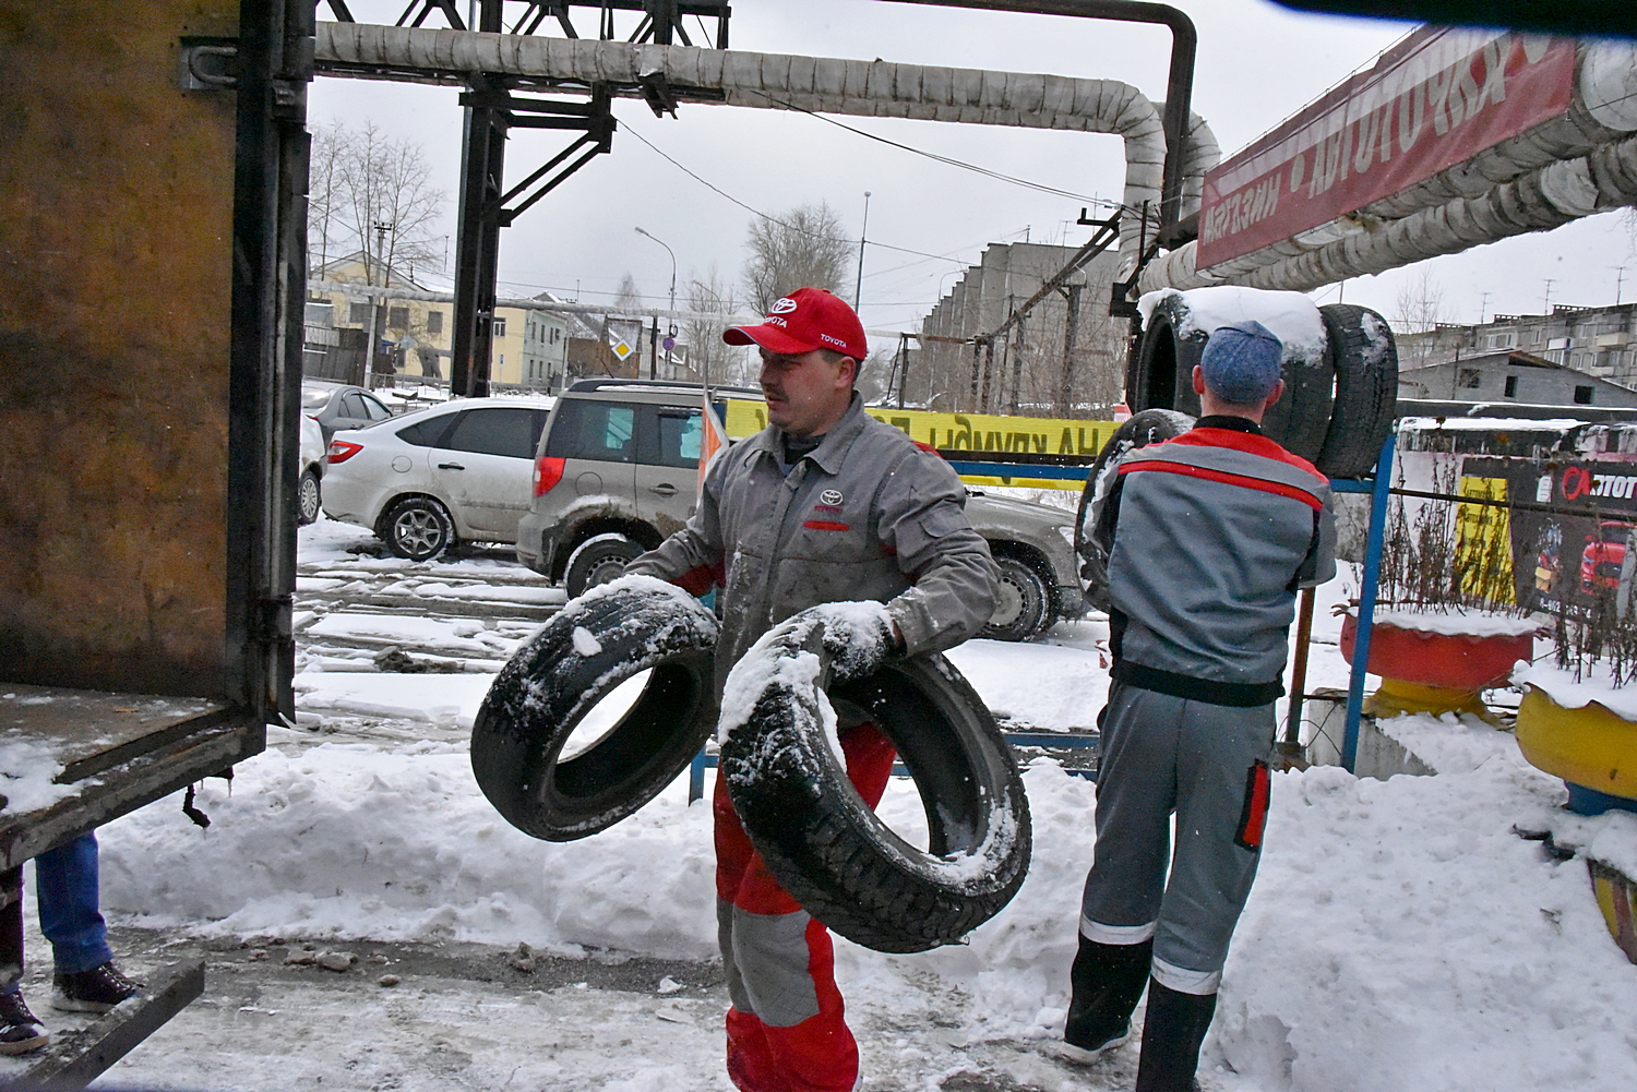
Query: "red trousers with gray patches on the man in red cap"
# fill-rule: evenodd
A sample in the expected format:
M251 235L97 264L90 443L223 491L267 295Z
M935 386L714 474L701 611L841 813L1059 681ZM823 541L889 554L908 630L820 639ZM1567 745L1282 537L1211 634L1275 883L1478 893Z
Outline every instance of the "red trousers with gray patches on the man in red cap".
M895 753L874 725L841 735L846 774L869 807ZM717 899L727 1012L727 1072L743 1092L850 1092L858 1045L835 986L830 932L779 887L738 824L722 774L715 799Z

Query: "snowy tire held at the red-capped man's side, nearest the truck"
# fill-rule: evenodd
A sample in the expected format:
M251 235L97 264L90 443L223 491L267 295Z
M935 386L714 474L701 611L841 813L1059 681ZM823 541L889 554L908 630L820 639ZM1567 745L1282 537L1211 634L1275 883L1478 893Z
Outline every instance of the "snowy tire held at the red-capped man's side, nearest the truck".
M506 822L547 842L612 827L688 768L715 729L717 620L681 588L622 576L571 601L501 668L471 729L471 773ZM593 745L558 760L586 714L652 668Z

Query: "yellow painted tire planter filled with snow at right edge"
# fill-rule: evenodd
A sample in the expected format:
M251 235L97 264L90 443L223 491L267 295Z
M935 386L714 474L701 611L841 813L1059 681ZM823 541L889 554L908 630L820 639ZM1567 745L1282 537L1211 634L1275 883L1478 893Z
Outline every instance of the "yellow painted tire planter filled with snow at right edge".
M1565 709L1531 686L1517 709L1517 747L1532 766L1572 787L1637 801L1637 720L1598 702Z

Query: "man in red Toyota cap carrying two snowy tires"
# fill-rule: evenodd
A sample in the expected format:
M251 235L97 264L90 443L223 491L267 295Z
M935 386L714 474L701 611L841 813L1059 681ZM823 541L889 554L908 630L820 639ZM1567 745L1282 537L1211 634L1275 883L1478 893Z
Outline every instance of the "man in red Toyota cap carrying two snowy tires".
M977 634L995 604L989 547L966 522L949 465L864 413L853 383L868 349L853 308L800 288L722 341L760 349L768 427L722 452L688 526L625 570L694 594L722 588L719 693L758 637L822 602L884 602L912 657ZM869 724L838 729L848 776L874 807L892 743ZM768 873L720 776L714 815L728 1076L743 1092L850 1092L858 1045L830 933Z

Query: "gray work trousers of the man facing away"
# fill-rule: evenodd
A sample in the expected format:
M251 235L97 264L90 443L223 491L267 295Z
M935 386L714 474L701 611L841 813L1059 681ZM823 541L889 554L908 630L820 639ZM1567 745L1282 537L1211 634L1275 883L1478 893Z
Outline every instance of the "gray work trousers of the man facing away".
M1080 935L1105 945L1152 936L1156 981L1215 994L1256 879L1272 745L1272 704L1213 706L1115 683Z

